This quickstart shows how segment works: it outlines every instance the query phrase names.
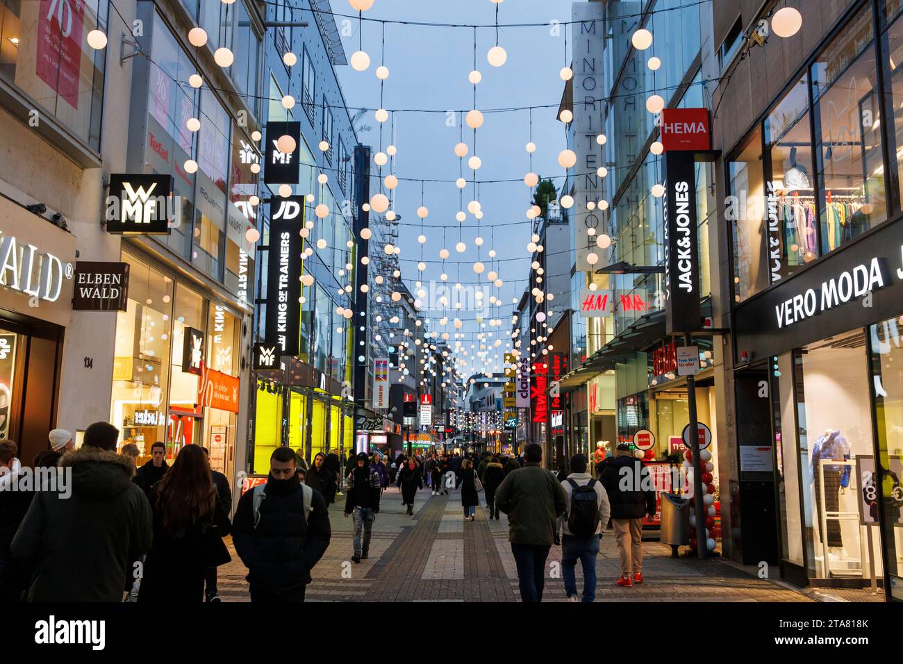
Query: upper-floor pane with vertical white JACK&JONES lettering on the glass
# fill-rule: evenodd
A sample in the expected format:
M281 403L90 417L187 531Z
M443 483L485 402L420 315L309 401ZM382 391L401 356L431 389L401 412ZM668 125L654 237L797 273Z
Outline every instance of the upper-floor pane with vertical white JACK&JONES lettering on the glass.
M808 87L808 76L797 80L765 119L771 164L767 269L772 284L818 256Z

